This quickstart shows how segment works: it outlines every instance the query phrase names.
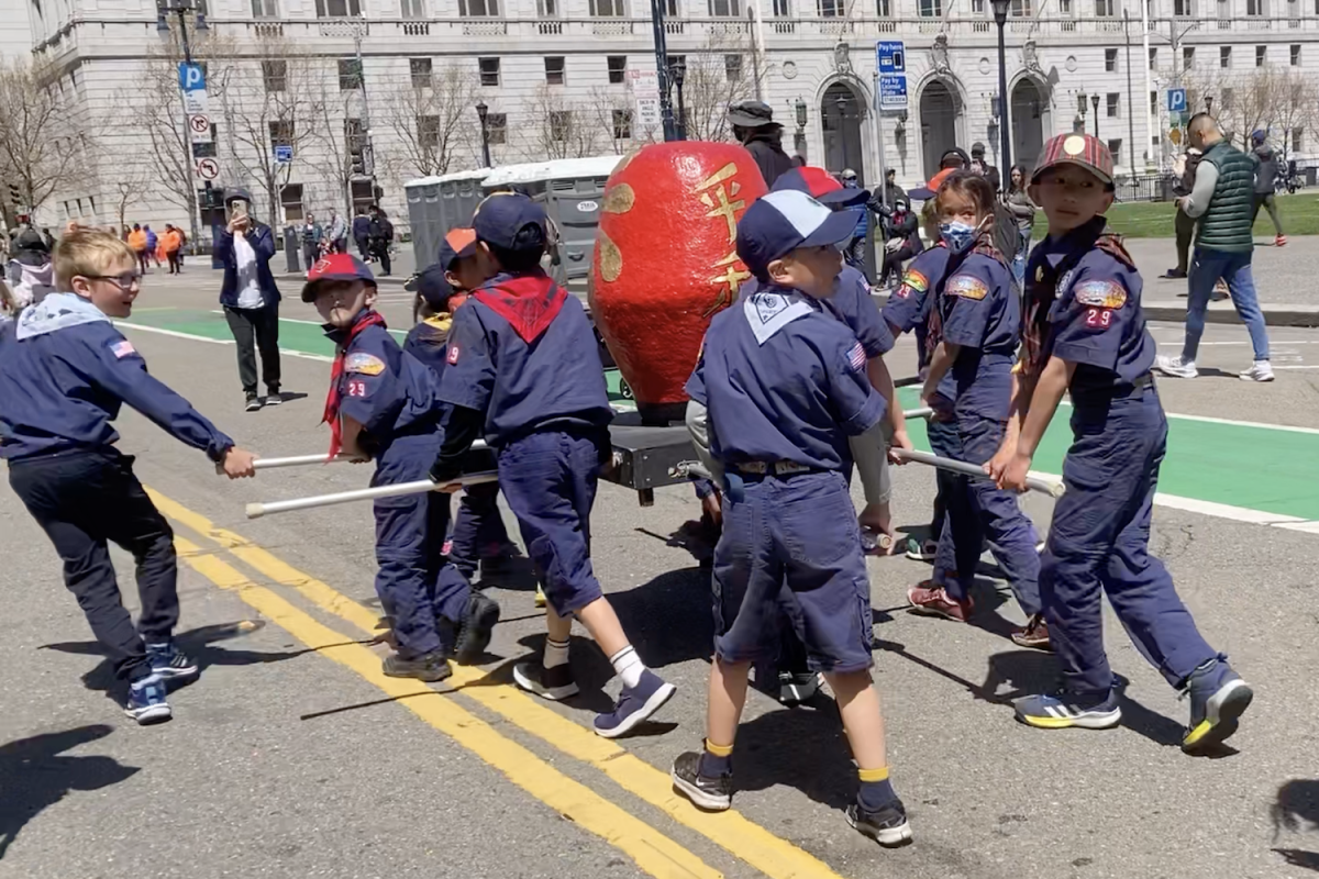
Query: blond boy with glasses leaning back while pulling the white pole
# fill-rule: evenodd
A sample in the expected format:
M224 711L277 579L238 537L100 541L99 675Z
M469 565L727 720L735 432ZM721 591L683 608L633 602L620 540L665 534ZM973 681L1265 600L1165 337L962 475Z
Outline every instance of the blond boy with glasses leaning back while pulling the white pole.
M55 248L59 293L0 326L0 457L9 485L65 564L65 585L91 623L116 675L124 712L138 723L169 720L165 684L197 675L173 643L178 623L174 532L133 476L133 457L111 426L128 403L171 436L253 476L253 456L146 372L111 323L128 318L141 285L132 249L116 236L74 229ZM142 615L120 601L107 546L137 561Z

